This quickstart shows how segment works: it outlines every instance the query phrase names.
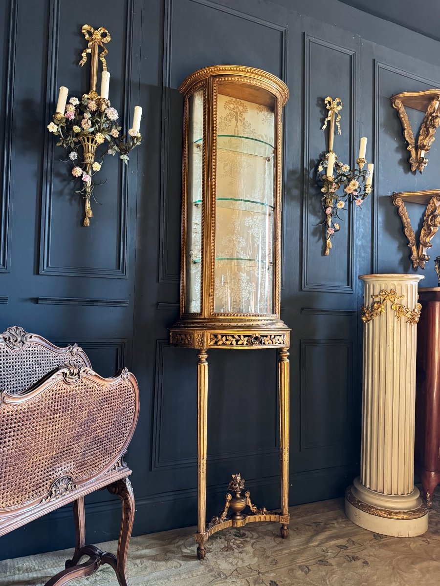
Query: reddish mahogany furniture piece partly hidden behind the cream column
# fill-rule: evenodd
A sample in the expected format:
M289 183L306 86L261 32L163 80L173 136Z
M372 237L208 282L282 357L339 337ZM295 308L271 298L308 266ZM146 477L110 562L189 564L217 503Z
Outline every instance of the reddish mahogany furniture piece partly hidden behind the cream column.
M417 328L415 471L427 505L440 484L440 287L419 288Z

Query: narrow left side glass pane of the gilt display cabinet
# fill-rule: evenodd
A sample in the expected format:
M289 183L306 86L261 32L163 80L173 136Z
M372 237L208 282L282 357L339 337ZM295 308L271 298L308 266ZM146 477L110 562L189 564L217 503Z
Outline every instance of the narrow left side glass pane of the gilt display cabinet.
M201 311L203 89L188 99L188 182L185 312Z

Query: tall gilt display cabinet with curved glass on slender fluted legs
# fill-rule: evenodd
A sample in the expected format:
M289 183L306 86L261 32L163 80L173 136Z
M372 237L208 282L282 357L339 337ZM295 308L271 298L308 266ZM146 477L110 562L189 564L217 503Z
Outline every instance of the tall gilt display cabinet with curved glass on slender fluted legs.
M214 66L181 84L184 96L180 319L171 343L198 353L198 557L219 529L251 521L289 532L289 332L280 319L281 115L289 90L266 71ZM207 350L279 348L282 511L241 496L233 475L221 515L206 524ZM237 488L238 487L238 488ZM251 514L243 515L248 506ZM228 516L228 509L234 512Z

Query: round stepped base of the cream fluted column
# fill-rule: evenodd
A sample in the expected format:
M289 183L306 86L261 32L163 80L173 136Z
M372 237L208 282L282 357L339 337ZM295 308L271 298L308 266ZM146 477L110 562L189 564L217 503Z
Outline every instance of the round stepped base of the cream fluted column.
M359 490L360 487L362 490ZM345 511L350 521L368 531L392 537L415 537L428 530L428 508L418 495L418 489L415 488L411 495L395 496L396 502L392 503L392 495L381 495L367 489L357 478L354 486L346 490ZM411 503L411 509L397 509L396 505L402 505L402 501ZM374 505L372 502L375 502Z

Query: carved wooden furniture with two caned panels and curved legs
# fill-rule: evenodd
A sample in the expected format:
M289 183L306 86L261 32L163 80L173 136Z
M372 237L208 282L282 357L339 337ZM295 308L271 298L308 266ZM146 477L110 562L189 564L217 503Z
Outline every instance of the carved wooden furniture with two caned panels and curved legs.
M73 502L75 552L46 586L89 576L101 564L128 586L134 496L123 456L138 411L137 381L127 369L103 379L76 344L59 348L17 326L0 334L0 536ZM122 502L117 556L85 542L84 496L104 488Z

